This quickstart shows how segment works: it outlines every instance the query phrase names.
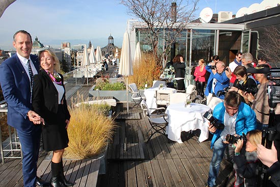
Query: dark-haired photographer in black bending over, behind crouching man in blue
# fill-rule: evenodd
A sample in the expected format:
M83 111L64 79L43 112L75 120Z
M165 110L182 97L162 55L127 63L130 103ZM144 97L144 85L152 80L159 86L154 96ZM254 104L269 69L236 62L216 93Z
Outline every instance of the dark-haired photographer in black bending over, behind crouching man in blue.
M257 92L257 84L253 78L247 76L247 71L244 66L237 66L233 72L236 80L231 87L230 91L236 91L242 96L242 102L245 102L245 93L255 94ZM248 101L246 102L248 103Z

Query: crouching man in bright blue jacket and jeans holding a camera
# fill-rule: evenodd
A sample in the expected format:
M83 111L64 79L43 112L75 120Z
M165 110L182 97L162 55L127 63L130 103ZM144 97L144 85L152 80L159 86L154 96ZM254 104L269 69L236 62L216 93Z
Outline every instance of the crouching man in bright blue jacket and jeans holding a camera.
M234 148L226 141L227 135L242 136L242 132L246 135L248 131L257 128L255 112L247 104L241 102L240 94L235 91L228 91L225 94L224 102L215 106L213 117L223 122L225 126L222 129L217 128L215 124L209 124L208 129L213 133L211 148L214 148L207 181L209 187L216 184L215 180L225 150L227 150L227 158L232 161Z

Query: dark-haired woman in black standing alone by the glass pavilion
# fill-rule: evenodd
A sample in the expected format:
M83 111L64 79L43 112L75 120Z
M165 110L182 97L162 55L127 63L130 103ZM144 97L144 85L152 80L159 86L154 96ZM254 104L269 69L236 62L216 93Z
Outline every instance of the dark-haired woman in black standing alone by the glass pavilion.
M173 61L174 69L175 69L175 80L178 84L177 90L186 91L185 82L184 82L185 73L186 73L186 70L185 70L186 65L183 60L183 56L176 55L172 61Z

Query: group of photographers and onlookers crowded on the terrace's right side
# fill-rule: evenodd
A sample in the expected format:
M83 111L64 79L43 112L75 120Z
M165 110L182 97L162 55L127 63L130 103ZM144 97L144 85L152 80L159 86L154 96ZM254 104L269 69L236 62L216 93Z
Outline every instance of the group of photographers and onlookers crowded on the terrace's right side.
M206 64L204 59L200 59L193 72L197 94L202 98L206 96L220 99L221 102L213 110L213 117L225 125L223 129L217 129L209 123L209 131L213 134L211 141L213 156L207 186L216 186L222 158L226 158L233 164L236 172L235 186L257 186L260 182L257 169L260 161L269 167L267 174L270 180L266 185L280 186L280 170L276 171L276 167L279 166L280 150L277 156L277 149L280 142L275 137L276 148L274 144L272 149L261 145L262 130L267 130L269 126L271 106L268 103L267 88L271 83L267 78L269 71L267 68L271 66L265 57L254 59L249 52L244 54L238 52L228 67L217 55L211 60L209 64ZM183 57L177 55L173 62L178 90L184 90L181 88L184 86L181 83L184 79L182 69L186 67ZM208 79L207 72L210 74ZM278 108L276 105L275 114L280 114ZM278 123L277 126L280 126ZM236 142L229 142L227 140L229 135L234 137L243 135L245 138L244 140L237 138ZM265 156L266 153L270 157ZM264 181L263 178L262 180Z

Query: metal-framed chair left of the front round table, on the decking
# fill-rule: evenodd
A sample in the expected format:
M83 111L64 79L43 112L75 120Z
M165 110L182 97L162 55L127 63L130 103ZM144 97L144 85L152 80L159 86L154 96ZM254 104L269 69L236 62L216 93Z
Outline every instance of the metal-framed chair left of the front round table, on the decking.
M166 137L165 136L165 128L168 124L167 119L169 118L169 116L165 113L163 113L163 114L150 114L148 105L147 105L145 100L141 101L141 108L143 110L144 116L145 115L148 116L149 122L152 126L152 128L150 128L149 131L154 130L154 132L151 134L151 136L146 141L146 143L152 138L152 136L155 133L161 133L162 135L164 135L164 137ZM161 109L161 108L158 108L158 109ZM149 131L148 131L148 133L149 133Z

